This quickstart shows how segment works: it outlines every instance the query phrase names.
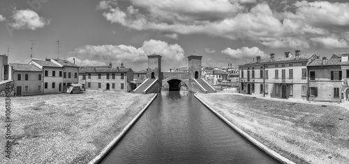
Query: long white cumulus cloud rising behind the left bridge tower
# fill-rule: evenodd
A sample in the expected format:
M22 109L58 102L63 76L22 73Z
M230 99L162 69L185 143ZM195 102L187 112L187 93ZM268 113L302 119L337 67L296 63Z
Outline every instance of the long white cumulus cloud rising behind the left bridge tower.
M154 54L163 56L164 60L179 61L184 58L184 50L178 44L168 44L161 40L147 40L142 47L131 45L85 45L69 54L78 54L80 62L94 65L104 65L110 61L117 63L142 63L147 61L147 56Z

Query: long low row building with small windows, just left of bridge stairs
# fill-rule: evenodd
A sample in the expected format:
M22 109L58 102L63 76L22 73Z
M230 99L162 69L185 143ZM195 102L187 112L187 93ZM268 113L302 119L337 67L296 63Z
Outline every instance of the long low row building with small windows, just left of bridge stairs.
M130 92L135 89L133 70L125 67L80 67L79 82L87 90Z

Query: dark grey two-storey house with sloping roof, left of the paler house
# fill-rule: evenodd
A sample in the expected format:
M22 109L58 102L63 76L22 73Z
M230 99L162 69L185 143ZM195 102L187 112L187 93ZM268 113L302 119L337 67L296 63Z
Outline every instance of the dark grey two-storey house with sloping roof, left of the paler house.
M41 69L35 65L11 63L9 79L14 82L15 96L41 95L43 81Z

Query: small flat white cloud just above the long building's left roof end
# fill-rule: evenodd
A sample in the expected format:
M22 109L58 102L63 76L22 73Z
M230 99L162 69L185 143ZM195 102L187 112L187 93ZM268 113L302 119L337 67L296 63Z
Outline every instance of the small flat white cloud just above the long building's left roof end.
M265 57L267 54L265 52L260 51L258 47L242 47L241 49L230 49L226 48L221 51L222 54L228 55L232 59L242 59L242 58L254 58L255 56Z

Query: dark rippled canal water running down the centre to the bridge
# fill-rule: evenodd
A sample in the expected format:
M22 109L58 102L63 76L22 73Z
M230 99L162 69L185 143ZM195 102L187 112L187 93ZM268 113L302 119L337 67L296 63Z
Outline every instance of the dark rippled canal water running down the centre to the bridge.
M101 163L278 163L196 99L191 92L158 93Z

